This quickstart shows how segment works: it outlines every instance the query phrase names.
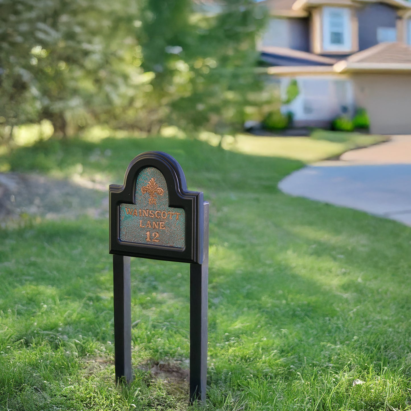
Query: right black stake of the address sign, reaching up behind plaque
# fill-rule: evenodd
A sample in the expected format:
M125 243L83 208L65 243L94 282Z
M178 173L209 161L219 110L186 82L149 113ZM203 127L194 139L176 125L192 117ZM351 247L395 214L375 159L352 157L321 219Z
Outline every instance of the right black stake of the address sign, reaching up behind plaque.
M190 264L190 403L205 402L208 344L208 203L204 201L204 258Z

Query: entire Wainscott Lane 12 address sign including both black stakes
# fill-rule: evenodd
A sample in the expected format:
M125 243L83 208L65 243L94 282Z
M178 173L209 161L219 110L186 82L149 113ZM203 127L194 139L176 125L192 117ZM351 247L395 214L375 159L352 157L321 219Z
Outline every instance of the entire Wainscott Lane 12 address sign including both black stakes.
M110 185L116 381L132 380L130 257L190 263L190 402L205 400L207 379L208 203L187 190L180 164L145 152L123 185Z

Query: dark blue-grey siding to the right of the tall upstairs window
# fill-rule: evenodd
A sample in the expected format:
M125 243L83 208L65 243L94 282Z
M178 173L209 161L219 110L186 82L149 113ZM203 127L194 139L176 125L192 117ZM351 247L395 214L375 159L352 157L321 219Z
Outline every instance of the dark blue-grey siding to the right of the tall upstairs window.
M383 3L369 4L357 11L358 40L360 50L375 46L377 41L377 28L396 27L396 10ZM398 33L397 33L398 34Z

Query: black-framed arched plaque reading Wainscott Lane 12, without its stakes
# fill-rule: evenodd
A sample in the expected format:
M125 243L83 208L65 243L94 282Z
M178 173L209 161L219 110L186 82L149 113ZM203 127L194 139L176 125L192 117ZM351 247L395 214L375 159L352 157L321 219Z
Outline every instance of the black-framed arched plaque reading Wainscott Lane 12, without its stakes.
M187 190L167 153L130 162L123 185L110 185L109 218L111 254L202 263L203 193Z

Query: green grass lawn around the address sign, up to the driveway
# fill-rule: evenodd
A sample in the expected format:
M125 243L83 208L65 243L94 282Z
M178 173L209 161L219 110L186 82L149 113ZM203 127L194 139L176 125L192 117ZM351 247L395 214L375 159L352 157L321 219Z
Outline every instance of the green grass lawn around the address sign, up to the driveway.
M210 202L207 409L411 409L411 229L279 192L304 162L106 138L49 140L0 163L120 184L147 150L169 152ZM106 219L0 230L0 410L188 408L174 377L188 368L189 266L132 259L135 379L116 388L111 264ZM176 372L157 379L156 364Z

